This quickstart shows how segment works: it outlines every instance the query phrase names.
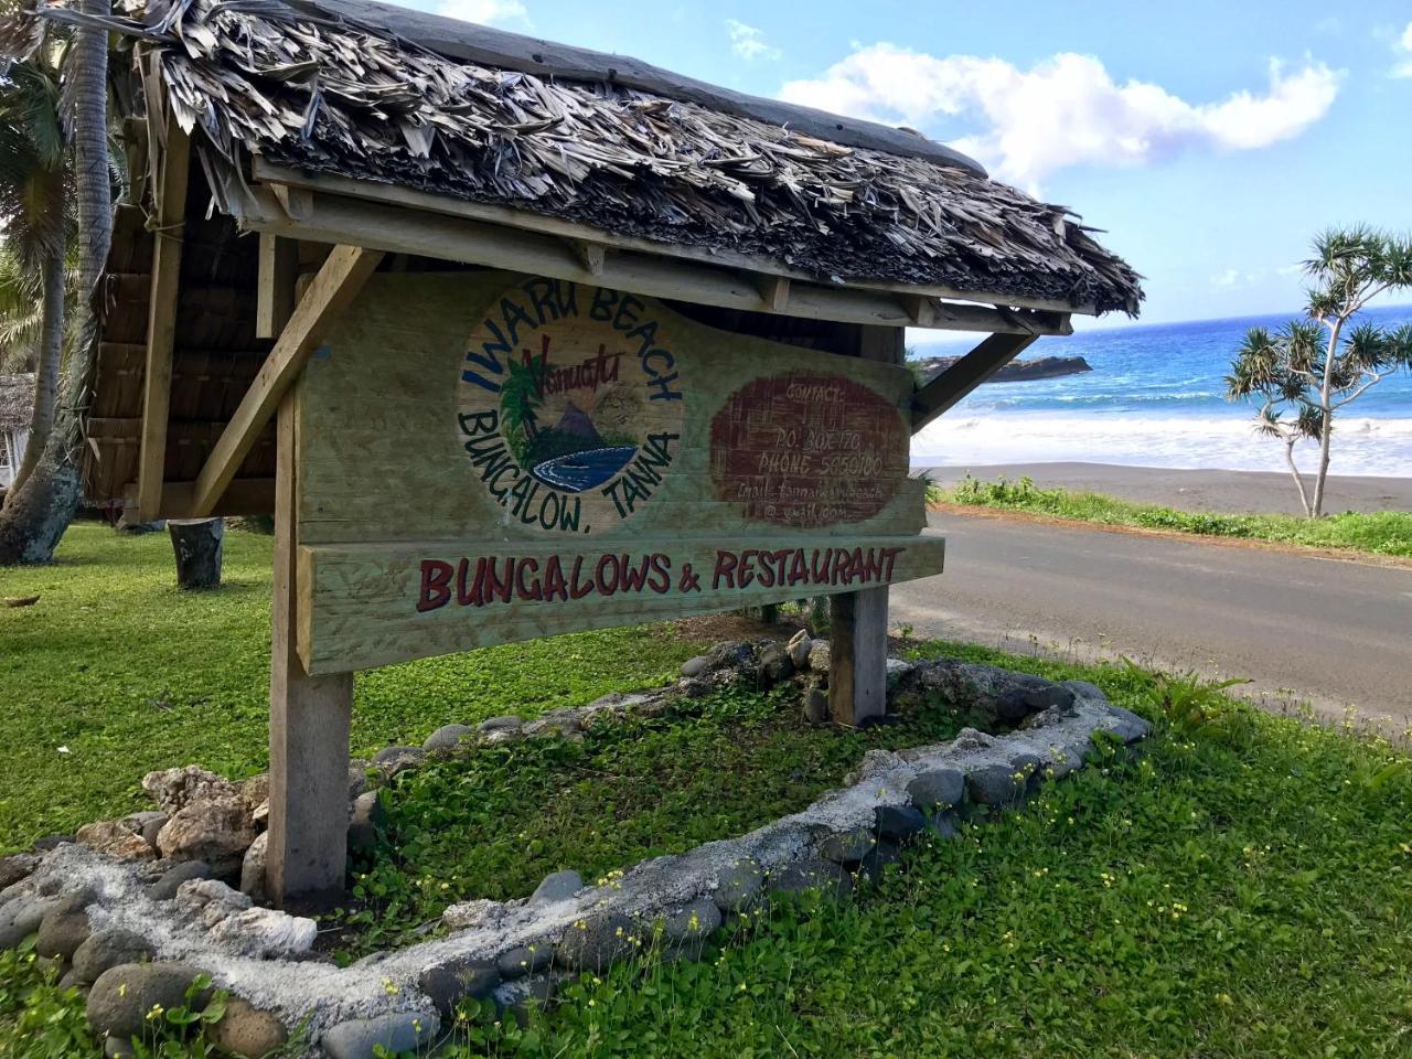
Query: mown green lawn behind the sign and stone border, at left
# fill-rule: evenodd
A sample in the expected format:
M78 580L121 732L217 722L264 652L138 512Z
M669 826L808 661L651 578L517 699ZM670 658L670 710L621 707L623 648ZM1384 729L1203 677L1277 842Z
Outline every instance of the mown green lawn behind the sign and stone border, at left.
M71 528L52 566L0 569L0 596L40 596L0 607L0 850L151 808L154 768L268 767L270 549L227 534L209 594L176 589L165 534L95 524ZM354 683L353 753L654 686L699 647L617 628L373 669Z

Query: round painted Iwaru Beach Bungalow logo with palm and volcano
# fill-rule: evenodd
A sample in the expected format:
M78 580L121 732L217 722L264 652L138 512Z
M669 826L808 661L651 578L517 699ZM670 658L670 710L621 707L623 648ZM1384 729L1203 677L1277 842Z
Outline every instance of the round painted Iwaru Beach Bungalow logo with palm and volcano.
M528 280L466 340L457 441L507 521L593 534L631 518L676 456L685 394L647 302Z

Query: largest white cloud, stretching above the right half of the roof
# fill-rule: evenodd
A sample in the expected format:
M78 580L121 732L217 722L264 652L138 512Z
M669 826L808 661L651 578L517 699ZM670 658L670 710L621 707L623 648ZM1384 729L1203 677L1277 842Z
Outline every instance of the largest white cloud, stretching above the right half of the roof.
M1196 147L1251 150L1288 140L1327 113L1340 78L1322 62L1288 72L1271 61L1262 93L1189 103L1151 82L1120 85L1090 55L1063 52L1022 71L997 58L873 44L818 79L788 82L781 97L915 127L967 120L980 131L955 145L1032 189L1067 165L1141 165Z

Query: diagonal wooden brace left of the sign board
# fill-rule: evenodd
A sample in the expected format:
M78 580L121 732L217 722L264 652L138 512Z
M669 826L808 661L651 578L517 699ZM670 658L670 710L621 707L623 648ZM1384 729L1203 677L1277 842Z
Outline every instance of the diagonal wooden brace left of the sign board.
M192 518L215 510L313 347L363 289L380 260L381 251L356 246L339 246L329 254L196 476Z

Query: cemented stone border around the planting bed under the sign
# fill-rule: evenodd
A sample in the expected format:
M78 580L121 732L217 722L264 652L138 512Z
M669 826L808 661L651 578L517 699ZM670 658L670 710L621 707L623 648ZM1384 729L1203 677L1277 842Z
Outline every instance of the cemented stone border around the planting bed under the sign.
M788 648L761 652L746 644L720 645L703 665L688 664L696 672L676 690L690 696L703 690L703 682L738 679L747 655L760 679L765 664L778 662L781 654L788 661ZM145 1012L150 1003L169 1007L172 995L179 1003L176 986L185 988L202 970L240 998L241 1018L267 1034L251 1039L282 1041L287 1028L308 1021L316 1052L364 1059L374 1043L394 1051L428 1043L467 995L494 997L505 1005L546 1000L562 974L597 971L631 957L651 942L654 929L662 931L668 945L683 946L703 940L723 916L772 891L844 891L851 871L877 870L923 830L955 834L955 815L970 805L1005 809L1043 779L1080 768L1094 734L1107 731L1132 744L1149 733L1147 722L1110 705L1091 683L1056 685L950 661L890 668L894 699L942 692L953 702L984 705L997 719L1022 722L1022 727L1005 736L966 729L950 743L868 751L847 786L802 812L734 839L642 861L597 885L585 887L576 873L565 871L546 878L528 899L452 905L443 915L452 928L448 936L376 953L346 969L308 955L316 933L309 919L260 908L213 878L154 884L152 864L79 843L59 844L11 868L32 870L0 892L0 945L17 945L38 929L41 955L69 960L75 984L85 977L95 983L89 1018L99 1029L121 1032L134 1005ZM775 669L788 678L781 666ZM806 686L806 703L816 690L816 682ZM534 724L572 737L585 714L592 719L668 700L662 692L610 698ZM503 741L507 737L496 733L507 727L491 724L477 740ZM395 755L384 762L388 771L412 764ZM191 782L205 782L193 775L186 772ZM136 964L138 959L155 963ZM133 997L126 1004L114 1000L128 991ZM148 1000L158 995L168 1000ZM110 1053L123 1049L110 1048Z

